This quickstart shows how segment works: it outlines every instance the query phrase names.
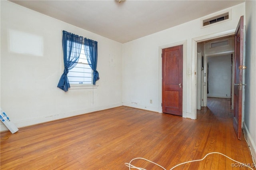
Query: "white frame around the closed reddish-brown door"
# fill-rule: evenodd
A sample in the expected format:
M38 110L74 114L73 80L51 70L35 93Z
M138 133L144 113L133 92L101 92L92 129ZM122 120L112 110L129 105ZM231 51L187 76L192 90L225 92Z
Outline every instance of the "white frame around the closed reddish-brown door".
M183 75L182 75L182 117L187 117L186 115L186 88L187 88L187 81L186 81L186 70L187 70L187 40L184 40L182 42L176 42L176 43L171 43L167 45L162 45L158 47L158 62L159 62L159 80L158 80L158 108L159 108L159 113L163 113L162 111L162 49L164 48L169 48L169 47L175 47L178 45L183 45Z

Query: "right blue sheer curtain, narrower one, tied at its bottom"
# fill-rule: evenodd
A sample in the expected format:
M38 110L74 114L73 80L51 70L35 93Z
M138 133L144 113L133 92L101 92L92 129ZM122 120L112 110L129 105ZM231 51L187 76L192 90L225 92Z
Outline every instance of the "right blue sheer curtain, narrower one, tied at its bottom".
M95 85L96 81L100 79L99 73L96 70L98 60L98 42L84 38L84 52L88 61L88 64L93 70L92 84Z

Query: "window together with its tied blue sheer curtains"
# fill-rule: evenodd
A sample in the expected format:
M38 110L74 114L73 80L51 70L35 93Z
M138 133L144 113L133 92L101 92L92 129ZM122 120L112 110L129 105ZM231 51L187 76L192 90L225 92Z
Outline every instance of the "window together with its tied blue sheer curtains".
M57 87L65 92L70 88L70 84L73 84L76 89L89 87L80 86L81 84L90 84L94 87L96 81L100 79L99 72L96 70L98 42L64 30L62 32L64 71Z

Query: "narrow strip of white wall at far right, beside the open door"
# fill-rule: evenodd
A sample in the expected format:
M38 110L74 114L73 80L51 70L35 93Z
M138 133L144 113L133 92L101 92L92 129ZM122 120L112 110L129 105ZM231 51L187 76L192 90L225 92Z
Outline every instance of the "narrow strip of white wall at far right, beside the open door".
M245 2L246 8L246 57L244 132L256 162L256 1Z

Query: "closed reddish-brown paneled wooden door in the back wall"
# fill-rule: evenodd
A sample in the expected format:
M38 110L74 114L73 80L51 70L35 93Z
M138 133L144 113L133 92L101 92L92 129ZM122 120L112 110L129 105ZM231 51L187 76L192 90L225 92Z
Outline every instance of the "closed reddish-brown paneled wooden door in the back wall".
M162 49L162 110L182 116L183 45Z

